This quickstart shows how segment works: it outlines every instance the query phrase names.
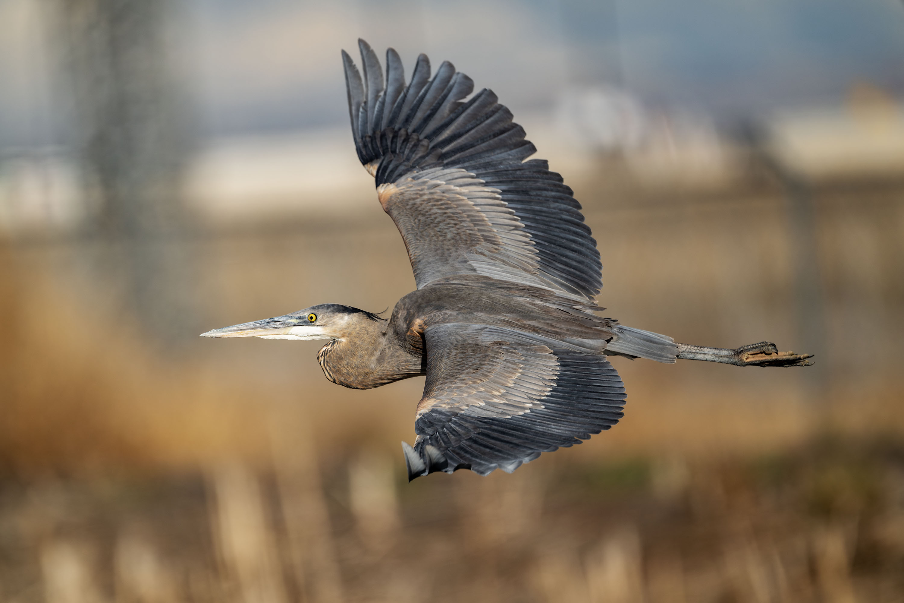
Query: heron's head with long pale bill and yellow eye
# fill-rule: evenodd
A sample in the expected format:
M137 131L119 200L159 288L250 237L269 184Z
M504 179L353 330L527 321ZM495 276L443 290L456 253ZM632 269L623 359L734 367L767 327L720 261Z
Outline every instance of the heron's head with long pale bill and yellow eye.
M252 323L224 326L202 337L263 337L264 339L346 339L372 330L380 316L340 304L321 304Z

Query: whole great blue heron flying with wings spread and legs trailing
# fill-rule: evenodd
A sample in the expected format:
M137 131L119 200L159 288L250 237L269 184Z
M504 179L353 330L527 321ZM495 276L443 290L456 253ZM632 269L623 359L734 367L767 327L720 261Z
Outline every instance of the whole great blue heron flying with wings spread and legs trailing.
M763 342L736 350L597 316L602 265L571 189L536 152L492 90L421 54L406 83L399 54L386 77L367 42L363 76L342 52L354 146L399 228L417 290L390 318L311 306L205 337L325 339L317 361L355 389L426 375L409 479L461 468L512 472L579 444L623 416L625 387L607 355L739 366L805 366L810 354Z

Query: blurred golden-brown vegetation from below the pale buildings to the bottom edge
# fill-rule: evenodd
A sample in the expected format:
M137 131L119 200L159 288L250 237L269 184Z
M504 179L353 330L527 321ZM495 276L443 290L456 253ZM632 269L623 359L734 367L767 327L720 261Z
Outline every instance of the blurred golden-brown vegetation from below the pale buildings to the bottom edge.
M609 316L811 351L774 186L573 184ZM399 441L421 380L343 390L314 344L161 352L89 268L99 243L8 245L0 600L904 600L902 187L815 197L815 372L616 359L615 429L511 476L410 485ZM413 287L376 203L175 244L198 259L204 329L328 301L380 310Z

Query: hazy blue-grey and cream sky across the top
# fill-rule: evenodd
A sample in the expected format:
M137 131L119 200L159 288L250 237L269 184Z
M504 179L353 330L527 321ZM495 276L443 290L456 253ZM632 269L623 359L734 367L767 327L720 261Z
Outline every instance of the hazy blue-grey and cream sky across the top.
M208 134L344 123L339 50L447 59L517 115L608 82L654 105L743 117L904 95L901 0L184 0L175 67ZM43 6L44 8L40 8ZM54 137L66 91L41 0L0 0L0 145ZM42 16L43 15L43 16Z

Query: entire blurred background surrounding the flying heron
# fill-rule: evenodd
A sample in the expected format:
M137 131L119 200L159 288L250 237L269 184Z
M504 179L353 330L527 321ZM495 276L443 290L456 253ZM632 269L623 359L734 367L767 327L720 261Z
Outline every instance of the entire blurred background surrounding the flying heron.
M407 484L422 379L199 338L414 288L359 36L512 108L607 316L815 366L616 358L615 429ZM0 600L904 600L902 101L899 0L0 0Z

